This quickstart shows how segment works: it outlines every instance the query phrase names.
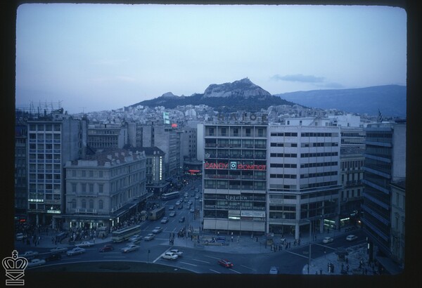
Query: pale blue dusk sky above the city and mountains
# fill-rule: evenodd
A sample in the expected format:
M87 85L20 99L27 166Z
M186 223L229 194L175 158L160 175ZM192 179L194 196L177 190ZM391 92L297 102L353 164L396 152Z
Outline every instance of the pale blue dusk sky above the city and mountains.
M271 94L406 85L389 6L22 4L15 106L115 110L248 77Z

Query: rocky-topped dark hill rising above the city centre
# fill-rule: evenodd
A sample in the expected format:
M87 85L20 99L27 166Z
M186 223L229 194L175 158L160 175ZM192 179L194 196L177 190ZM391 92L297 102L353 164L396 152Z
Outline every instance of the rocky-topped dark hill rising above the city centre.
M163 106L169 109L182 105L207 105L224 112L238 110L257 112L271 105L295 105L295 103L272 96L271 93L245 78L232 83L210 84L204 93L195 93L192 96L174 96L173 93L167 92L158 98L145 100L132 106L137 105Z

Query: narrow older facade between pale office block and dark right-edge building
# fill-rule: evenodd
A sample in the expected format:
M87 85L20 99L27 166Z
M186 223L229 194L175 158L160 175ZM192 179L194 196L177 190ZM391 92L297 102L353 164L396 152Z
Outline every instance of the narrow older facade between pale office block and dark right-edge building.
M340 227L360 225L360 211L364 201L364 152L365 150L359 147L340 148L343 185L340 190Z

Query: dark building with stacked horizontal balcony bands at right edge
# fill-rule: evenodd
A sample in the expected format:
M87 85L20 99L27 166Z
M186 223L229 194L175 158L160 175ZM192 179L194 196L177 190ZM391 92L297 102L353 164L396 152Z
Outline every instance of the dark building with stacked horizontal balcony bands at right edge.
M406 123L372 123L365 131L363 227L369 246L375 245L379 255L390 257L390 183L406 177Z

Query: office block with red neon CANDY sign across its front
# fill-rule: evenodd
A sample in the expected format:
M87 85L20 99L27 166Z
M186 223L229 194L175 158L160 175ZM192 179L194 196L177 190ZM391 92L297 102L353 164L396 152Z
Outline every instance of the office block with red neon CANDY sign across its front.
M203 229L263 234L267 123L217 121L198 127L198 135L204 137Z

